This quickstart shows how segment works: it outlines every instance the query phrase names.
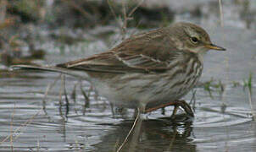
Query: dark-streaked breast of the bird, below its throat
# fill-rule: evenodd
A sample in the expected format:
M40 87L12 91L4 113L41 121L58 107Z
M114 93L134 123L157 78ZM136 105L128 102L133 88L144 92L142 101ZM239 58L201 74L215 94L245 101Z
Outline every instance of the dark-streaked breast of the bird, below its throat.
M147 86L152 89L147 90L151 95L147 100L152 99L148 107L179 100L198 82L202 71L202 62L197 57L191 57L170 68L167 73L160 74L151 86Z

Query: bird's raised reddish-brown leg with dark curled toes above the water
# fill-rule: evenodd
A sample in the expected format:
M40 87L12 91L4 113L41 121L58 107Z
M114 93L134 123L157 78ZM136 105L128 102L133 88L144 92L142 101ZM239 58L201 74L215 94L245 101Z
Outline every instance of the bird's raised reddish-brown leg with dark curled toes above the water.
M176 112L178 111L178 107L181 106L185 111L186 111L186 114L188 114L189 116L191 117L194 117L194 114L193 114L193 111L192 111L192 108L191 106L189 106L185 100L175 100L175 101L171 101L169 103L166 103L166 104L162 104L162 105L159 105L159 106L155 106L153 108L148 108L145 110L145 112L151 112L151 111L156 111L158 110L159 108L163 108L165 106L175 106L175 109L173 110L173 113L171 115L171 117L174 117Z

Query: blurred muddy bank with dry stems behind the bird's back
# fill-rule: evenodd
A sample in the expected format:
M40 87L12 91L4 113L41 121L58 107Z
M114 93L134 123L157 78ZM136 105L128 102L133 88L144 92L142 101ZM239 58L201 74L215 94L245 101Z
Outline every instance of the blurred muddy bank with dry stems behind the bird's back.
M110 44L103 42L106 49L127 32L131 35L179 20L209 28L225 24L255 30L255 5L252 0L226 0L220 14L218 0L1 0L1 65L31 62L47 52L73 52L66 46L120 34ZM60 48L49 48L53 41Z

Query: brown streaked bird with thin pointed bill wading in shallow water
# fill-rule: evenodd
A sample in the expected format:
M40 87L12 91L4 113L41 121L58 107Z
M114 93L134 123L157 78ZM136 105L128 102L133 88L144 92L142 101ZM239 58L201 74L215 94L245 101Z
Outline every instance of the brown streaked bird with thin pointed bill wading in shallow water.
M197 84L203 72L203 56L209 50L225 48L214 45L199 25L178 22L131 35L91 57L53 66L14 65L12 69L80 73L114 106L138 108L142 113L175 106L171 117L181 106L194 117L191 106L181 98Z

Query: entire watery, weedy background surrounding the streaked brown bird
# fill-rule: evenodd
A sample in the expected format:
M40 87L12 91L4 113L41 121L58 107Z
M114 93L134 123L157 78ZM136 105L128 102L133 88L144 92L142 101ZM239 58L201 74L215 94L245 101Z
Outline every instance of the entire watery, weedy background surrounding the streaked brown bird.
M88 57L178 21L227 51L208 53L184 98L193 120L153 111L124 151L256 151L255 0L0 0L0 151L116 151L133 110L109 106L85 80L8 68Z

